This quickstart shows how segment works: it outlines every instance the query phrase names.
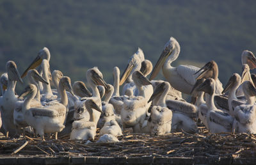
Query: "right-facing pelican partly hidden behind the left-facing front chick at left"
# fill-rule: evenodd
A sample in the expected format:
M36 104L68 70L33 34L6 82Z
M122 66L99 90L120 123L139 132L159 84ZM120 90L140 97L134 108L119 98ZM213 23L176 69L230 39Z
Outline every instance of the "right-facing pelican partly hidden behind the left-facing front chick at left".
M43 77L37 72L35 69L31 69L28 71L28 81L30 84L34 84L37 88L37 92L35 98L31 102L31 107L40 107L42 106L40 102L40 89L38 86L38 81L42 83L48 83L45 81ZM24 127L28 127L28 123L26 123L23 113L22 113L22 104L24 104L24 100L20 100L15 102L15 109L13 111L13 122L16 125L16 135L20 136L20 128L23 127L23 135L25 136L25 129Z

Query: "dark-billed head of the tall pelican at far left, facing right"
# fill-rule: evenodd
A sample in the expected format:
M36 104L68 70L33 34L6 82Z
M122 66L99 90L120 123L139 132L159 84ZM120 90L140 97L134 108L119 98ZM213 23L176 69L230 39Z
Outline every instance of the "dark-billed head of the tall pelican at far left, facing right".
M6 63L6 70L8 74L8 79L12 81L19 81L20 83L23 83L20 74L17 70L17 65L15 64L14 61L8 61Z

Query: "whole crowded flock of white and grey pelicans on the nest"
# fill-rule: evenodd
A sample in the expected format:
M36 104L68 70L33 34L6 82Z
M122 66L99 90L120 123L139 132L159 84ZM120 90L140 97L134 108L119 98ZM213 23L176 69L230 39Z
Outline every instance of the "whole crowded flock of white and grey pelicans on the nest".
M98 128L99 141L106 142L118 141L128 128L155 135L196 133L197 123L202 122L211 133L256 133L256 76L250 74L256 68L253 53L243 51L242 74L234 73L224 88L215 61L202 68L172 67L179 53L179 42L171 37L153 67L139 48L121 76L119 68L113 68L113 85L104 81L97 67L86 72L87 86L82 81L71 85L60 70L51 73L46 47L21 76L15 62L8 61L0 77L1 132L6 137L25 137L30 132L43 140L68 134L70 139L87 141L94 140ZM160 70L166 81L153 80ZM25 76L28 85L17 95L15 85ZM182 93L191 95L191 102Z

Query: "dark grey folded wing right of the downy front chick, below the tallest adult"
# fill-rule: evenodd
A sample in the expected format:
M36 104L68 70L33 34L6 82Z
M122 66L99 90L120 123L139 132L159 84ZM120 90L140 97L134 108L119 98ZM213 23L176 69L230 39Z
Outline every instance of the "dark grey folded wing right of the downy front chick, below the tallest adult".
M190 118L196 118L196 106L179 100L166 100L166 106L175 113L184 113Z

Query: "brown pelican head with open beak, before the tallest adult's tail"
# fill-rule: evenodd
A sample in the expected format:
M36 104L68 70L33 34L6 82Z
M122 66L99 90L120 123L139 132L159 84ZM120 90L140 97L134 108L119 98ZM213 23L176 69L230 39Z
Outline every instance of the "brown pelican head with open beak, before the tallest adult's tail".
M202 72L196 77L196 79L202 79L202 78L207 79L209 77L211 77L213 79L218 78L218 65L215 61L210 61L210 62L206 63L204 65L204 67L200 68L200 70L195 72L195 74L197 74L201 70L202 70Z

